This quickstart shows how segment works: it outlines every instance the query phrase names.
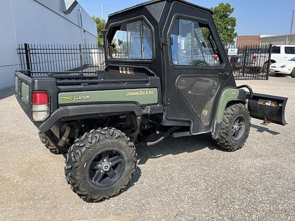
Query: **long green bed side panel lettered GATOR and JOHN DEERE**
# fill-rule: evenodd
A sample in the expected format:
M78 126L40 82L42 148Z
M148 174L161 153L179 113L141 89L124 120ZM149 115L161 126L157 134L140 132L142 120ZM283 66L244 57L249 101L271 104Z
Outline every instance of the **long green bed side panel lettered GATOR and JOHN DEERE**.
M58 104L135 103L139 106L158 103L158 89L124 89L108 91L66 92L58 94Z

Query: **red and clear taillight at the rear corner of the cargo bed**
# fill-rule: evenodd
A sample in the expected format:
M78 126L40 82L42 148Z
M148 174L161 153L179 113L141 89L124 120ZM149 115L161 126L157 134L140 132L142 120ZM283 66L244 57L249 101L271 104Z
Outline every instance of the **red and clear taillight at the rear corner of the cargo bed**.
M44 121L50 115L50 97L47 92L32 92L32 118Z

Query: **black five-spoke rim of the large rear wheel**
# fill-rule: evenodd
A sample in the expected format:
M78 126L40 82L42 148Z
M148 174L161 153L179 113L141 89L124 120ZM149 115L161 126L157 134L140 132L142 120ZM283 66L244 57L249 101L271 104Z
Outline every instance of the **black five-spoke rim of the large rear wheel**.
M99 151L91 160L89 177L93 184L100 188L114 185L125 169L123 155L114 149Z

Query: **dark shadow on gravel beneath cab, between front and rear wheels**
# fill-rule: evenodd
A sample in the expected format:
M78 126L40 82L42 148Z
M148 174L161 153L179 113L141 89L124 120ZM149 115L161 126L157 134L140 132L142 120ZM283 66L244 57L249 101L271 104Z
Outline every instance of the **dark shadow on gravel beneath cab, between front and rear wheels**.
M217 148L209 134L181 138L166 138L154 146L136 145L138 165L145 164L149 159L161 158L169 154L195 152L204 148Z

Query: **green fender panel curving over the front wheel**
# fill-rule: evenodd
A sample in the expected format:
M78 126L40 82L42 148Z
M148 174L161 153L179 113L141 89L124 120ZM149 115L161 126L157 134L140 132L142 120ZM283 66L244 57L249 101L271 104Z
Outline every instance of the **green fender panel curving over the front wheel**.
M229 101L238 100L239 90L238 89L225 89L218 101L217 111L215 115L215 122L222 121L226 104Z

